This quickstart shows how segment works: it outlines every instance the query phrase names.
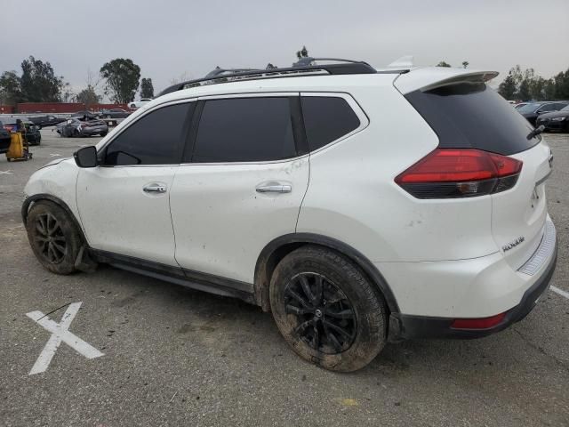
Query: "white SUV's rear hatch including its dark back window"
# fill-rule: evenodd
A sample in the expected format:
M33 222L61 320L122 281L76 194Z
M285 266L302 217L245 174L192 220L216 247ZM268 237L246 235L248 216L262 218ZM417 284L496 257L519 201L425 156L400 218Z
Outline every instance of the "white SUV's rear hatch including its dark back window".
M488 76L469 73L411 91L409 81L402 87L408 91L404 93L407 101L437 133L439 148L480 149L523 162L513 187L495 189L490 196L493 239L509 265L518 270L544 234L548 215L544 184L552 155L541 135L528 138L533 127L485 84Z

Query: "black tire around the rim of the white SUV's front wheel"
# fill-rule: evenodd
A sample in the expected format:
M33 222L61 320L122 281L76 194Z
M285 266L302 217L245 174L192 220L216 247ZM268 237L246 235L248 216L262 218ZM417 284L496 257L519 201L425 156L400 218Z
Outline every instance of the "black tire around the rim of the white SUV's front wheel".
M36 219L37 216L45 213L52 214L60 223L61 231L65 237L67 251L62 262L52 263L45 259L36 245ZM69 218L69 215L55 203L50 201L39 201L32 205L26 220L26 231L28 233L29 245L39 261L46 270L57 274L70 274L76 270L75 262L79 249L83 245L81 235L76 230L76 225Z

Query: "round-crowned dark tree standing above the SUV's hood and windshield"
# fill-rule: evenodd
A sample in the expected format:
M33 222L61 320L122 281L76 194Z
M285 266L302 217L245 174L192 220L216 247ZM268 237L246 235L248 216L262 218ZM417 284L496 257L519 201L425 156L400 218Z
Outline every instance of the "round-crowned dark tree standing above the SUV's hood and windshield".
M100 68L100 77L106 80L105 94L112 101L127 103L139 88L140 67L130 59L116 58Z

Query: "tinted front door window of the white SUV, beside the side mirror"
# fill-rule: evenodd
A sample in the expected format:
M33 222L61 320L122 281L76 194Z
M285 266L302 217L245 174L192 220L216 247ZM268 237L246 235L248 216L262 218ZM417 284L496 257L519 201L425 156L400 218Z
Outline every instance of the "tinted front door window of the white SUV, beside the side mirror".
M129 126L107 149L105 165L180 163L182 135L194 102L156 109Z

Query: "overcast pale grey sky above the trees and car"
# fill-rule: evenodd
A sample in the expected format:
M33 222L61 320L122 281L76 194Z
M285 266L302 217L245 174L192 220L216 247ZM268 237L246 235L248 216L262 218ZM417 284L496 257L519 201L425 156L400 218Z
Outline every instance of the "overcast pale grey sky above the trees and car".
M381 68L404 55L552 77L569 68L569 0L2 0L0 73L28 55L76 92L115 58L130 58L155 93L212 68L289 67L310 56ZM7 17L12 17L7 19ZM23 19L15 19L22 17ZM98 91L102 93L102 82Z

